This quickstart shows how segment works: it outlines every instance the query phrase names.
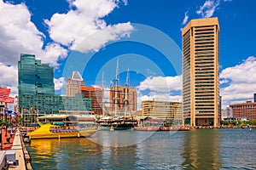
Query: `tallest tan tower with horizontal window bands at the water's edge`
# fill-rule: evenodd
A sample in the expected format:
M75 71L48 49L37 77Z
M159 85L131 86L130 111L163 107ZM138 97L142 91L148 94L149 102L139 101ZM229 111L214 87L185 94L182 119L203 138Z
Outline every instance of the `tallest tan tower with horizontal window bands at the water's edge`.
M191 126L218 127L218 18L183 28L183 114Z

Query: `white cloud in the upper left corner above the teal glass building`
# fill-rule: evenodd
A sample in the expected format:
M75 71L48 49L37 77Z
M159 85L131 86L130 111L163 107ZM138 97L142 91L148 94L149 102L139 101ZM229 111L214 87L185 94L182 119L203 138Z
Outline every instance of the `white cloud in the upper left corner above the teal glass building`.
M11 4L0 0L0 59L7 65L17 65L20 53L36 54L45 63L57 66L67 50L55 42L44 47L44 34L31 20L25 3ZM53 51L51 51L53 50Z

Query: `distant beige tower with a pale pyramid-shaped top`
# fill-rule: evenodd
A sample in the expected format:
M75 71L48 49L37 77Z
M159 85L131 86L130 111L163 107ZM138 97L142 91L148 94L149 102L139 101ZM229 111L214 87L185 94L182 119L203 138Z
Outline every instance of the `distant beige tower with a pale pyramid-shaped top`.
M79 93L79 89L84 86L84 80L81 77L79 71L73 71L72 76L67 79L67 97L74 97L75 94Z

